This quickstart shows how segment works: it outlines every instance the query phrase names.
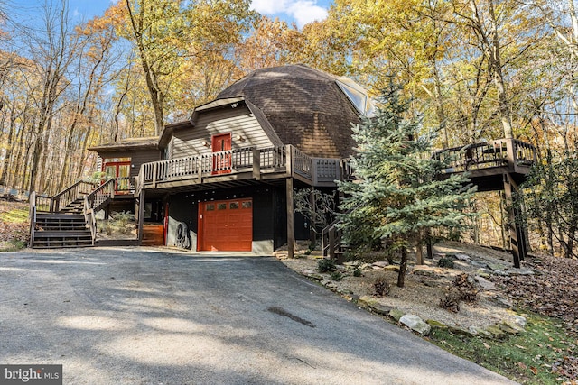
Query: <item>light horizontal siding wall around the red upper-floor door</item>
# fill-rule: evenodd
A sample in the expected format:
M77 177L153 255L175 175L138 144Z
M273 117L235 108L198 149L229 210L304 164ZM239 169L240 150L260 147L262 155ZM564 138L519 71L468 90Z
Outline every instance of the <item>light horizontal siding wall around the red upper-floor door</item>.
M191 129L175 130L169 145L171 158L209 154L211 152L210 138L219 133L231 133L233 150L241 147L273 146L247 105L240 104L237 108L227 105L200 113L198 121ZM239 135L245 139L245 142L238 140ZM209 143L209 147L202 145L205 141Z

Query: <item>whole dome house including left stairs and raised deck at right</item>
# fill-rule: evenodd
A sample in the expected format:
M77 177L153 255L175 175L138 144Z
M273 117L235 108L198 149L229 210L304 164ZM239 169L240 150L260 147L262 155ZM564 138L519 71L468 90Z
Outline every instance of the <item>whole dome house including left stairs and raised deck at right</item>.
M98 187L79 181L54 197L33 194L31 246L104 244L95 243L94 213L105 209L135 212L137 236L125 244L270 254L286 243L292 256L294 240L311 232L294 213L294 190L334 192L336 180L350 178L351 124L361 115L371 115L368 95L348 78L303 65L257 69L159 137L91 148L111 179ZM467 171L480 191L504 190L511 200L536 149L510 138L433 156L452 156L442 178ZM519 213L509 215L518 267L526 236L515 225ZM324 231L331 257L338 230Z

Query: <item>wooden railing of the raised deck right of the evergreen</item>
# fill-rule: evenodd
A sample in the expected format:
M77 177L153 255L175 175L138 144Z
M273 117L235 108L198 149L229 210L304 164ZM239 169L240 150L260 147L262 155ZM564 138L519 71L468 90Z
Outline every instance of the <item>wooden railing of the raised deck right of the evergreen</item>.
M504 166L514 169L531 166L536 161L536 148L517 139L498 139L435 151L433 158L447 162L445 172Z

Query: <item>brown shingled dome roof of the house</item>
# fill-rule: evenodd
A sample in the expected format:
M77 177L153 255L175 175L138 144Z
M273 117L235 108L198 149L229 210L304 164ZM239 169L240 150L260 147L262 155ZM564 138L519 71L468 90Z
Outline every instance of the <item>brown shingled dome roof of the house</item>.
M284 144L315 157L353 152L351 123L359 123L359 113L329 74L304 65L257 69L218 98L239 96L260 110Z

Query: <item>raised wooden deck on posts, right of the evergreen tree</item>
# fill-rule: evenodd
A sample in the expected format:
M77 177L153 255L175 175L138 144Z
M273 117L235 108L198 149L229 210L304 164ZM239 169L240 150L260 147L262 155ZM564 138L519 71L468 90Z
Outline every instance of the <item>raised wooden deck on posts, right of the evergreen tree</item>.
M433 157L450 159L450 166L443 170L444 176L467 172L478 191L498 191L504 189L505 175L517 185L526 181L536 162L536 149L516 139L498 139L436 151Z

